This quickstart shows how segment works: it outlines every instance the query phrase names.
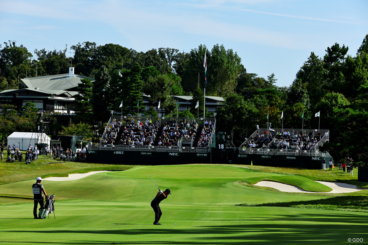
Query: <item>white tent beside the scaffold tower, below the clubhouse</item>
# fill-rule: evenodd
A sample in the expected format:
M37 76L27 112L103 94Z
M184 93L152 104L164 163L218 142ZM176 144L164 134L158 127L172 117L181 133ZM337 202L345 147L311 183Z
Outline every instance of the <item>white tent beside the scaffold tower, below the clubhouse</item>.
M38 145L40 149L40 144L47 144L47 147L50 148L50 140L51 138L47 136L45 133L25 133L25 132L14 132L8 136L8 145L11 147L16 145L20 150L26 151L29 147L29 144L32 144L34 148L35 145ZM41 150L41 149L40 149ZM44 150L44 149L42 149Z

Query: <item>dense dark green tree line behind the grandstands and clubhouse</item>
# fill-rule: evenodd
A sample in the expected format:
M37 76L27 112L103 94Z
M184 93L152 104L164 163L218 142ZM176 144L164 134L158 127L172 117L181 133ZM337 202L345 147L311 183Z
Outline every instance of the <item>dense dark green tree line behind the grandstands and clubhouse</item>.
M171 115L176 115L177 106L170 95L193 96L192 109L179 115L197 116L194 109L197 101L199 107L203 107L206 53L206 96L221 96L226 100L225 105L217 109L217 131L233 131L234 141L240 143L254 131L256 124L266 127L270 122L272 127L281 127L282 112L284 128L301 128L303 121L304 128L318 128L321 119L320 128L332 131L332 140L326 144L326 149L340 152L343 158L347 153L341 153L344 152L341 148L347 152L353 150L336 145L337 142L345 144L348 141L344 139L351 138L348 134L356 135L359 130L364 131L360 131L362 141L367 138L367 130L364 130L368 123L365 111L367 39L368 35L355 57L347 55L348 47L338 43L327 47L323 57L311 52L287 87L276 86L274 73L267 78L248 73L236 52L218 44L211 50L201 44L186 53L175 48L137 52L118 44L97 46L84 42L70 47L74 52L72 57L67 57L66 47L59 51L35 50L37 58L32 60L26 47L8 42L0 46L0 89L16 88L18 77L35 76L36 65L41 76L67 73L72 62L78 74L95 79L93 83L88 78L82 79L79 86L81 96L77 97L75 105L78 120L106 122L111 110L120 112L121 109L123 114L139 111L156 115L153 108L141 111L143 93L151 96L152 107L161 101L161 107ZM123 106L119 107L120 104ZM314 116L316 112L320 112L321 118Z

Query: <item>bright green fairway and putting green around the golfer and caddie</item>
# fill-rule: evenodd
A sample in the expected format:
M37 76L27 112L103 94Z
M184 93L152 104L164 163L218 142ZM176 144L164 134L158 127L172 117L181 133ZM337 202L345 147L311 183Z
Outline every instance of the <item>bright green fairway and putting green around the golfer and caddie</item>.
M161 189L173 193L160 203L162 226L152 224L150 202L158 190L149 174ZM368 241L367 213L235 206L329 198L238 183L277 176L282 174L251 173L232 166L169 165L139 166L72 181L45 180L47 194L56 195L56 219L52 214L50 219L33 220L32 202L2 205L0 244L346 244L353 237ZM34 182L3 184L0 193L30 196Z

